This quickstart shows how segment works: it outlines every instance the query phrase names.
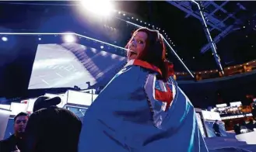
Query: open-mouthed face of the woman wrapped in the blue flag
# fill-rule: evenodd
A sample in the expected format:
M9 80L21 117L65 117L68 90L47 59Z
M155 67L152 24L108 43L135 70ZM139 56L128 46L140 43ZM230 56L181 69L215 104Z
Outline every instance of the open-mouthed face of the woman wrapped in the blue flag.
M148 35L145 32L138 32L132 37L128 44L127 59L137 59L146 47L146 39Z

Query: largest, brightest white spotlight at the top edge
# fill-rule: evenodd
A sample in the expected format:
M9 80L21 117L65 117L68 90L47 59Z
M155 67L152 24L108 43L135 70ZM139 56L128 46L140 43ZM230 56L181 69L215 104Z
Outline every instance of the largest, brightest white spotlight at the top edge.
M93 0L93 1L81 1L82 6L89 10L90 12L94 12L97 15L100 16L109 16L110 12L114 11L114 7L111 4L110 1L99 1L99 0Z

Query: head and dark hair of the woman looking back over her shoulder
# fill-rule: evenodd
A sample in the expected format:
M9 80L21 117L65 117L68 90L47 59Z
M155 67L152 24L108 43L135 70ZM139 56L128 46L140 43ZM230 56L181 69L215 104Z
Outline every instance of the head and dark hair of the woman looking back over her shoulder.
M166 48L163 43L163 36L157 30L137 29L125 48L128 49L128 60L144 60L159 67L162 78L167 80Z

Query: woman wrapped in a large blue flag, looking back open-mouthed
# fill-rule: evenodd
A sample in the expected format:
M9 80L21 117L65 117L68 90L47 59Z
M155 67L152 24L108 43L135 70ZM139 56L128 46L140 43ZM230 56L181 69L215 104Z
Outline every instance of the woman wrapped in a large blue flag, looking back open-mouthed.
M160 33L138 29L126 48L128 64L86 112L79 152L207 151L191 102L168 74Z

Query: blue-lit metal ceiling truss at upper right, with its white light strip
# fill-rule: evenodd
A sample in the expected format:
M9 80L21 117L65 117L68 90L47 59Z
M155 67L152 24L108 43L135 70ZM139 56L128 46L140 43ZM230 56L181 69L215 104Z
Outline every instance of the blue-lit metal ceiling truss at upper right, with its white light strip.
M214 1L195 2L193 0L167 2L176 6L178 9L181 9L183 12L186 12L187 15L185 18L193 16L202 22L209 43L206 43L202 47L201 53L204 54L212 48L212 54L215 56L216 62L219 64L220 70L222 71L220 59L216 53L216 43L232 33L234 30L240 29L240 25L243 23L244 19L237 19L235 15L241 10L246 10L244 5L237 2L236 9L234 9L233 12L229 12L226 9L223 9L223 6L225 6L229 1L221 2L221 4L217 4ZM213 30L217 33L214 38L211 36Z

